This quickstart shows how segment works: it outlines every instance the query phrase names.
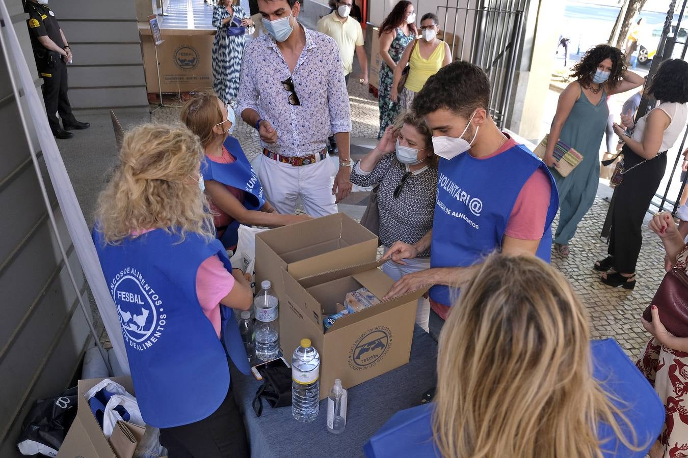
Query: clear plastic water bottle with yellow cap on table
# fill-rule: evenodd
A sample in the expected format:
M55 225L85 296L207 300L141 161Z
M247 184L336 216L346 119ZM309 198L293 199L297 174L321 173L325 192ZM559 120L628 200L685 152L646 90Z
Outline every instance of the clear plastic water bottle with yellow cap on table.
M292 415L299 422L312 422L318 416L320 397L320 355L301 339L292 356Z

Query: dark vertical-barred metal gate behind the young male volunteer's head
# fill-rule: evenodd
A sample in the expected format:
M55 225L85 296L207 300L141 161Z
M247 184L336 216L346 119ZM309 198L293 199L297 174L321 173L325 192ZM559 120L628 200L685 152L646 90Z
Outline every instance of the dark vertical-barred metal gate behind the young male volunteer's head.
M484 69L492 93L490 115L504 128L514 87L514 73L530 0L452 0L438 6L453 60L468 60ZM687 0L688 1L688 0ZM460 4L463 4L460 5ZM440 19L441 21L441 19Z

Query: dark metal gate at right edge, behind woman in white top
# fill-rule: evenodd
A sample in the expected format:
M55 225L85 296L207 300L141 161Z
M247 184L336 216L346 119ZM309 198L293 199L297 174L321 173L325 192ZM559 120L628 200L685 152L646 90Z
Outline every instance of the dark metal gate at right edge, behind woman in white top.
M657 72L661 62L671 58L685 60L686 51L688 50L685 29L688 27L682 25L682 23L684 22L683 19L687 5L688 0L671 0L662 30L662 36L657 47L657 53L652 59L652 65L647 75L648 81L652 81L652 76ZM678 19L676 23L674 23L674 15L677 13ZM643 98L641 105L638 107L636 121L643 117L643 115L655 106L655 104L656 100L654 100L654 98ZM686 147L687 137L688 129L684 130L678 150L672 148L672 150L667 153L667 155L669 155L669 157L667 157L668 163L671 164L671 170L668 171L668 179L667 172L665 172L665 180L667 180L667 183L666 185L660 185L652 199L652 203L650 203L648 211L654 213L654 211L667 210L676 215L676 210L680 207L680 197L686 187L686 181L688 179L688 174L685 174L687 176L685 176L682 181L680 181L680 178L677 179L677 176L680 176L678 171L682 165L682 153ZM672 158L674 158L673 164L671 163Z

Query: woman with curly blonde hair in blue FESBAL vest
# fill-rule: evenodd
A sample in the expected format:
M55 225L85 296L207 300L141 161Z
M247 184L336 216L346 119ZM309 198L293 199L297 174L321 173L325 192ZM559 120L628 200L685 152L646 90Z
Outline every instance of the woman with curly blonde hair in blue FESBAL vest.
M242 457L227 356L245 374L250 367L229 307L248 310L252 294L215 239L203 157L184 126L131 130L93 237L143 419L171 457Z

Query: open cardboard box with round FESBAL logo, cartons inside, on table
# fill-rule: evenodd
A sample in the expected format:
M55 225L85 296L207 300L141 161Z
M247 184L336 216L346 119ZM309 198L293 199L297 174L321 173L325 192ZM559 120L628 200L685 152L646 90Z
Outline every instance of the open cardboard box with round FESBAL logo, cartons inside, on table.
M300 282L282 270L287 299L279 306L280 347L290 355L301 339L310 339L320 354L321 400L336 378L350 388L409 362L418 297L427 288L382 301L394 280L380 271L380 264L359 264ZM345 315L323 332L323 314L337 312L336 304L361 286L380 304Z

